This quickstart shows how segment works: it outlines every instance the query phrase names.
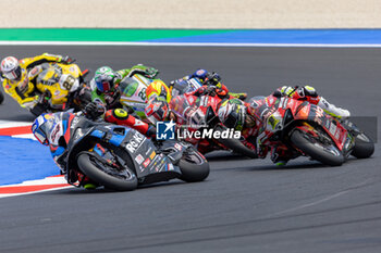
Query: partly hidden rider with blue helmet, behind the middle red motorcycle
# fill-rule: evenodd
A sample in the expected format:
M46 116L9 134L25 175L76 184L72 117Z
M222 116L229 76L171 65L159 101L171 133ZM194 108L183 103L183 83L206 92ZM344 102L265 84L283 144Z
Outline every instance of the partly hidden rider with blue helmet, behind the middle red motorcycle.
M183 78L172 80L170 83L170 88L172 91L173 96L182 94L185 92L192 92L198 89L200 86L197 85L197 83L189 83L188 80L196 78L197 80L200 81L201 86L207 85L207 86L216 86L217 88L224 89L225 86L221 83L221 77L218 73L216 72L208 72L207 69L204 68L198 68L196 72L194 72L192 75L184 76ZM181 90L181 92L179 91ZM225 89L228 92L228 89ZM229 91L229 94L241 99L245 100L247 98L247 93L234 93Z

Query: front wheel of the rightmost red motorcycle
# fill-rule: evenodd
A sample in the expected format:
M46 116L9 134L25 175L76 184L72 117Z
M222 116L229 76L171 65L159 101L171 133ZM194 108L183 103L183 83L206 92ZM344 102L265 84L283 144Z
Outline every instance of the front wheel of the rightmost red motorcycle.
M323 132L320 134L323 135ZM345 161L344 155L335 147L333 141L330 144L324 144L315 137L308 135L308 132L298 129L295 129L291 134L290 139L297 149L303 151L303 153L323 164L340 166Z

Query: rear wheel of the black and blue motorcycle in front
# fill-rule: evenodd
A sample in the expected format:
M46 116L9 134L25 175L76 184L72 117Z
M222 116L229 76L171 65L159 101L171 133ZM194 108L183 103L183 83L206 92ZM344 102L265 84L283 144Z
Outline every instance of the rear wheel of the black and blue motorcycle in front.
M187 182L202 181L209 176L209 163L194 148L188 148L179 161L179 167L182 173L180 179Z

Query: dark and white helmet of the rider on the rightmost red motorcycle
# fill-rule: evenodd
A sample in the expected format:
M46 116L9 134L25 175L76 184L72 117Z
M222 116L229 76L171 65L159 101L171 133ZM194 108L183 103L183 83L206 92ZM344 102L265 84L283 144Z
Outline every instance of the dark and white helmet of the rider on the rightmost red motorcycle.
M238 99L224 101L218 110L223 125L235 130L242 130L245 125L246 106Z

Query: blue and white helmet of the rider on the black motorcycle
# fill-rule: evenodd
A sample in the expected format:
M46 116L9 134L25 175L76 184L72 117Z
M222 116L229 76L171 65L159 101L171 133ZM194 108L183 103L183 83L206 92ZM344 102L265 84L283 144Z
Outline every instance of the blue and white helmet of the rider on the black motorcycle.
M53 115L44 113L39 115L32 125L32 132L36 139L44 146L49 144L48 132L53 127Z

